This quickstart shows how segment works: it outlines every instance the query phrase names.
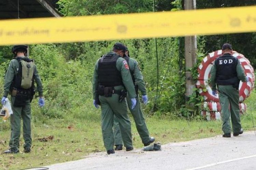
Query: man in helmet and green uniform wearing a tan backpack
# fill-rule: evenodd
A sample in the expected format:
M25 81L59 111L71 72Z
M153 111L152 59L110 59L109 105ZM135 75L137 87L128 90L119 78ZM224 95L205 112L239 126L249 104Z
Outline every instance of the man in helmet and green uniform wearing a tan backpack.
M25 56L28 46L17 45L12 48L15 54L11 60L9 67L5 73L4 94L1 103L8 94L11 95L11 106L13 114L11 115L11 139L9 149L4 153L19 152L20 122L23 120L23 138L24 152L29 153L31 140L31 110L30 102L34 95L34 81L37 83L37 91L39 92L39 106L44 105L43 86L40 76L33 60Z

